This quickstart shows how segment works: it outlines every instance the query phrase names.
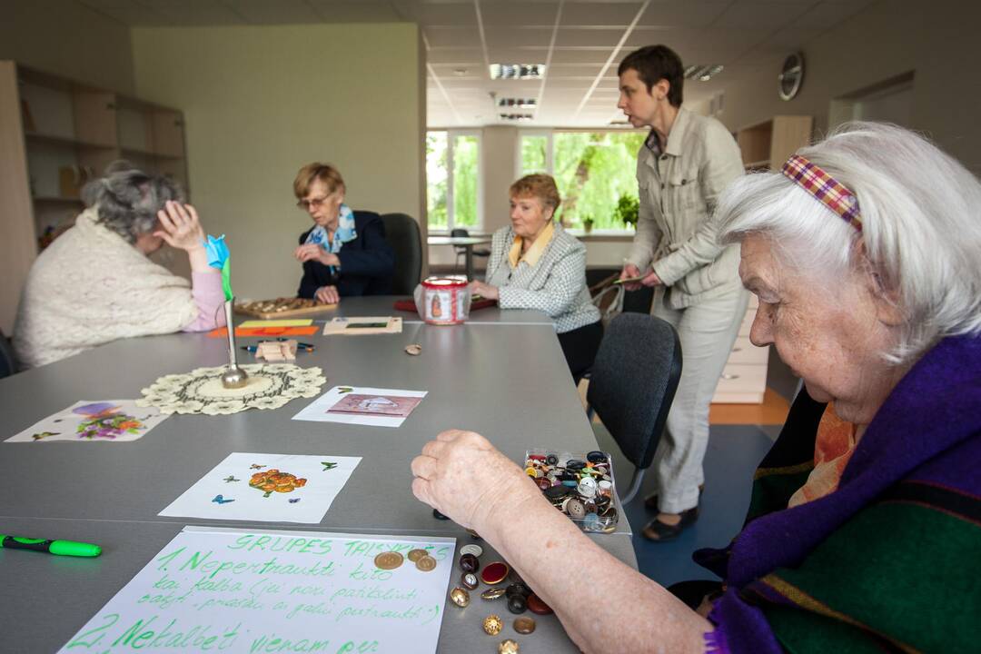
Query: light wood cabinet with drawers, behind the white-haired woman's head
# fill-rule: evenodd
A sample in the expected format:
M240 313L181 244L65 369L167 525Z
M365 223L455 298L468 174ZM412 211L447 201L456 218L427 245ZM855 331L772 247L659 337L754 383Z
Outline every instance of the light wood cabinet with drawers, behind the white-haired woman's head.
M743 153L743 165L748 172L779 170L788 157L810 142L813 128L814 119L810 116L774 116L740 129L736 132L736 142ZM756 306L756 297L751 296L712 402L760 404L763 401L770 348L756 347L749 342Z

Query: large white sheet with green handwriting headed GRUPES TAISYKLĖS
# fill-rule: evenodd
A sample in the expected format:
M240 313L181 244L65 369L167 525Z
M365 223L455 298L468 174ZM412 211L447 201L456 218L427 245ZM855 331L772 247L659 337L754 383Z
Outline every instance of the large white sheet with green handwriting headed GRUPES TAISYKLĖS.
M436 651L453 538L185 527L59 652ZM405 558L425 549L423 572Z

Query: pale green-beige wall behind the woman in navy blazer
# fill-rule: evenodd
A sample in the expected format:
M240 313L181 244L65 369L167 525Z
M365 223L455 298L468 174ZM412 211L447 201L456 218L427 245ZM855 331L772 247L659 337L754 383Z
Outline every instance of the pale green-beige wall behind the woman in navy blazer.
M139 97L184 113L192 200L228 234L237 295L295 292L303 164L335 164L354 209L422 216L416 25L134 28L132 43Z

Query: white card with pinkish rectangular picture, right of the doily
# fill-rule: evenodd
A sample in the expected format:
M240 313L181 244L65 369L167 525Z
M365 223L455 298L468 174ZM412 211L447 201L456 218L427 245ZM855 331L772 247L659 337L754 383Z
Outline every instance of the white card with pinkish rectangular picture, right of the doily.
M335 386L293 416L293 420L399 427L425 396L425 390Z

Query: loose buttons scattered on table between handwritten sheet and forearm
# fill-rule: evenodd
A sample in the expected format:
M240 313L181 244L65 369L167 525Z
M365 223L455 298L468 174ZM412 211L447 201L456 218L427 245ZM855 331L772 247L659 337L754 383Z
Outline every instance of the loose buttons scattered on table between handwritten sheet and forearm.
M532 592L528 584L503 561L493 561L482 566L480 557L483 554L484 548L477 544L460 548L460 558L457 560L461 571L460 585L449 591L449 599L455 606L461 609L470 606L470 591L476 590L481 581L484 581L490 587L481 592L481 599L493 602L506 598L507 610L515 615L520 616L531 611L544 616L552 612L542 598ZM497 585L503 583L506 585ZM498 635L504 627L504 620L498 614L490 614L483 622L484 631L490 635ZM521 616L514 620L513 628L517 633L529 634L535 631L535 627L535 619L530 616ZM497 651L515 653L518 651L518 642L510 638L503 640L498 644Z

